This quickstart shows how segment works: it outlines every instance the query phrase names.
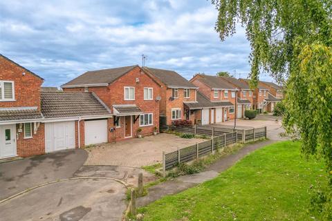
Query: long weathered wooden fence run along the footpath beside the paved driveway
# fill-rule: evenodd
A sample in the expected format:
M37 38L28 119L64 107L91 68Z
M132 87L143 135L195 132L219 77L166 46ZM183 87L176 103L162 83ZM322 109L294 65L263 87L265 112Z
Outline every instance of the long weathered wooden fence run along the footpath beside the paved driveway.
M212 136L211 140L187 146L171 153L163 152L163 175L165 176L166 171L174 169L178 164L191 162L235 143L237 143L237 131L223 133L223 135L216 137Z

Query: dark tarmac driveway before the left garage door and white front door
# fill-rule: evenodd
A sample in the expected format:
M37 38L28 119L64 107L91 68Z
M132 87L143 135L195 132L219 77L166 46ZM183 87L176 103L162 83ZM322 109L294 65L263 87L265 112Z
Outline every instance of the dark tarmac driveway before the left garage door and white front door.
M73 177L87 157L86 151L59 151L0 164L0 200L24 189Z

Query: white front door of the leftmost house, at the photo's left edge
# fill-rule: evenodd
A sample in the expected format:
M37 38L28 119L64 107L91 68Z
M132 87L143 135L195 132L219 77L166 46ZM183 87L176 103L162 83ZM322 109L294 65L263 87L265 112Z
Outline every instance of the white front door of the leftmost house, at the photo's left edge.
M15 124L0 126L0 158L16 156Z

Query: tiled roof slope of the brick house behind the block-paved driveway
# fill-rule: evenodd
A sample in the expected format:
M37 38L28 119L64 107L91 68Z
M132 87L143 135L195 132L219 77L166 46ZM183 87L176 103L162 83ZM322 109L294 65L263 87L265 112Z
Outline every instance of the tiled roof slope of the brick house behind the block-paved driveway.
M71 81L68 81L66 84L62 85L62 88L71 88L74 86L85 86L91 84L111 84L113 81L136 67L138 67L138 65L102 70L91 70L76 77L75 79L72 79Z

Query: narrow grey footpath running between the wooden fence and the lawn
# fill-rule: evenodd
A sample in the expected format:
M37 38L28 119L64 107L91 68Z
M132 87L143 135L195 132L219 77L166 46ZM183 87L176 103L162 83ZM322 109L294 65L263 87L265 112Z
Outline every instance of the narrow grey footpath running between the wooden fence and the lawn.
M237 151L237 153L221 158L201 173L177 177L175 180L169 180L156 186L152 186L149 188L148 195L137 199L137 204L138 206L145 206L162 198L165 195L174 195L205 181L212 180L214 177L218 176L219 173L230 168L230 166L234 165L237 161L248 155L248 153L251 153L252 151L255 151L258 148L268 144L273 144L274 142L276 141L266 140L263 142L257 142L255 144L249 144L241 150Z

